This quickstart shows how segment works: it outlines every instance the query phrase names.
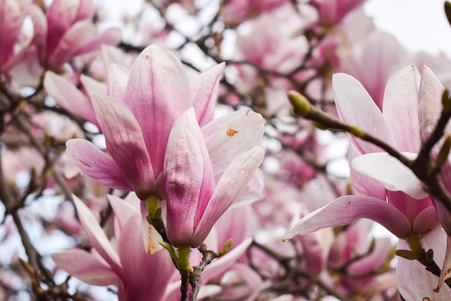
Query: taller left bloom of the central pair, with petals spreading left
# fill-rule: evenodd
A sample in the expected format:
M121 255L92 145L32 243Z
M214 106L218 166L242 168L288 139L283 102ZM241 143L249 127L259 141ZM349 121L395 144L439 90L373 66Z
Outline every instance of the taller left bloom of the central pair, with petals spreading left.
M99 183L135 191L140 199L154 192L162 196L156 181L162 180L171 127L192 105L200 125L213 119L223 67L211 68L190 82L180 61L156 45L144 49L130 71L111 65L109 96L92 95L109 154L86 140L70 140L68 155Z

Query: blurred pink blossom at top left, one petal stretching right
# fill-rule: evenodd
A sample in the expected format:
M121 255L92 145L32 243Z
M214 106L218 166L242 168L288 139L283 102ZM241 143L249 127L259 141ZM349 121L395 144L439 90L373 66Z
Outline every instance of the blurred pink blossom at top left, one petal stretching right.
M47 12L37 5L30 6L35 26L35 40L39 60L49 69L61 68L74 56L100 49L101 44L118 44L121 32L109 29L97 34L92 22L92 0L54 0Z

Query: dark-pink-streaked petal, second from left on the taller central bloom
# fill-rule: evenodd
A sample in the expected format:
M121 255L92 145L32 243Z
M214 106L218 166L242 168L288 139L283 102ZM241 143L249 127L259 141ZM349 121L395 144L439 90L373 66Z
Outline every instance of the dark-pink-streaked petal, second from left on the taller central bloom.
M116 98L94 93L92 105L105 135L109 154L128 178L137 196L143 199L154 192L155 178L140 125L130 109Z

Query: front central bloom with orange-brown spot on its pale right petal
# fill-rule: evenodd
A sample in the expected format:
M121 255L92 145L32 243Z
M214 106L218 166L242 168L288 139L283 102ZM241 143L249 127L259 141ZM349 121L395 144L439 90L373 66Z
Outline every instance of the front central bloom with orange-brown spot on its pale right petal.
M214 121L202 132L193 108L178 118L164 161L167 233L173 245L198 247L245 189L264 157L263 147L257 147L263 130L263 118L250 111L240 123L224 128ZM208 140L216 140L217 147L228 145L228 154L213 152ZM227 166L217 182L214 161Z

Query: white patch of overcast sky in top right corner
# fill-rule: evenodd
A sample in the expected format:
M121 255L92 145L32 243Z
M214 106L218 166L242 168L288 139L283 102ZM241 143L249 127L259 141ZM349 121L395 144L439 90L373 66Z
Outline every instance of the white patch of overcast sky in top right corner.
M364 5L381 30L390 32L410 51L443 51L451 58L451 26L444 0L368 0Z

